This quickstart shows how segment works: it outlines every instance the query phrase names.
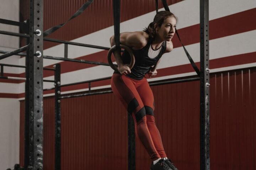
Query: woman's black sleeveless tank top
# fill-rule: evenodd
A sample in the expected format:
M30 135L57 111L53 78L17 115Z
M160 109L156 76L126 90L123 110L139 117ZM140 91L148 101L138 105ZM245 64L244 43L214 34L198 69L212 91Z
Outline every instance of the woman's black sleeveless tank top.
M135 57L135 64L131 69L132 73L127 74L126 75L127 77L136 79L136 80L142 80L145 74L148 73L149 68L151 66L154 66L162 57L166 49L166 41L164 41L163 44L161 45L162 48L160 47L161 50L159 51L159 54L155 58L150 58L148 56L148 51L149 51L149 48L151 47L151 43L152 43L152 39L149 39L147 45L144 46L142 49L139 49L139 50L132 49L132 52ZM130 55L126 50L124 50L121 58L124 64L130 63ZM115 71L114 73L119 73L119 72Z

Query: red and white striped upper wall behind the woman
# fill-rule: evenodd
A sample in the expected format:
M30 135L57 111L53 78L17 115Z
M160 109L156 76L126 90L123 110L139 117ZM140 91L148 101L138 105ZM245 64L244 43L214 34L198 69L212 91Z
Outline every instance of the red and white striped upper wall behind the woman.
M152 0L152 2L154 2ZM144 6L154 5L151 1L143 1ZM53 3L54 2L47 2ZM70 2L72 3L72 2ZM106 4L108 3L108 4ZM125 5L121 1L121 6ZM138 2L142 3L142 2ZM135 4L131 1L130 4ZM170 4L170 3L169 3ZM79 8L81 4L73 6L73 13ZM105 7L103 7L106 5ZM78 18L67 24L65 28L61 28L52 36L53 38L71 40L73 42L81 42L85 44L99 45L110 47L109 38L113 35L112 12L107 9L111 6L111 1L95 1L90 8L85 11L86 15L81 15ZM132 32L143 30L153 20L155 15L154 6L138 8L140 15L134 18L125 18L124 15L129 15L134 6L127 5L127 8L121 8L121 32ZM185 44L188 52L191 54L193 60L199 66L199 0L184 0L169 6L170 10L178 17L177 30L181 36L183 44ZM54 9L54 8L53 8ZM56 23L55 17L52 18L52 24L48 19L51 19L49 13L53 12L52 8L44 8L44 21L47 27L53 26ZM100 9L100 10L99 10ZM96 11L99 11L98 13ZM125 11L124 11L125 10ZM151 10L149 12L148 10ZM164 10L163 8L160 10ZM64 11L63 11L64 12ZM94 15L90 15L90 13ZM107 13L107 15L101 15ZM72 14L72 11L69 11ZM54 13L54 15L58 15ZM123 18L125 19L122 19ZM68 16L65 16L68 17ZM224 70L232 70L239 68L247 68L256 66L256 3L254 0L240 1L240 0L210 0L209 1L209 53L210 53L210 69L211 72L219 72ZM81 26L80 23L85 23L86 19L90 20L90 25L94 27L84 31L79 31L81 28L72 27ZM94 19L95 18L95 19ZM54 20L55 19L55 20ZM63 18L62 18L63 20ZM104 21L104 23L102 23ZM63 21L62 21L63 22ZM88 24L88 23L87 23ZM105 27L104 27L105 26ZM82 27L82 26L81 26ZM82 27L83 28L83 27ZM100 28L100 29L97 29ZM86 29L86 28L83 28ZM91 30L91 31L90 31ZM69 39L71 38L71 39ZM195 75L190 66L186 54L177 39L173 38L174 50L162 56L158 67L158 76L149 79L164 80L169 78L184 77L188 75ZM64 57L64 45L56 45L45 43L44 55ZM68 57L107 62L107 51L100 49L92 49L87 47L71 46L68 47ZM20 58L20 65L25 65L25 58ZM52 67L56 63L61 63L61 83L73 83L77 81L91 80L111 76L113 70L107 66L95 66L90 64L60 62L55 60L44 59L44 67ZM8 70L6 75L25 77L24 69ZM6 73L6 72L5 72ZM52 72L44 72L44 79L53 79ZM22 81L0 80L0 97L14 97L22 99L25 94L25 83ZM52 83L44 83L44 88L53 87ZM101 89L110 87L110 81L103 81L92 84L92 89ZM70 92L80 92L87 90L87 85L79 85L73 87L62 88L62 94ZM44 92L44 96L54 95L53 91Z

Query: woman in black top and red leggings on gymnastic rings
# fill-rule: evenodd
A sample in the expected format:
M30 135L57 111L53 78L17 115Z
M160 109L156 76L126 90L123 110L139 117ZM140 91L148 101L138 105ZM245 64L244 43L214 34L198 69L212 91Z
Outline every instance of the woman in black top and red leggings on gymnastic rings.
M162 54L171 52L171 42L175 33L177 19L168 11L160 11L144 31L124 32L120 34L120 43L129 46L135 56L132 69L128 67L130 56L124 51L122 57L117 51L114 57L118 71L114 72L111 87L135 121L135 132L148 152L153 163L150 170L177 170L167 159L161 136L155 125L154 96L148 81L144 77L154 77ZM115 45L114 36L110 38Z

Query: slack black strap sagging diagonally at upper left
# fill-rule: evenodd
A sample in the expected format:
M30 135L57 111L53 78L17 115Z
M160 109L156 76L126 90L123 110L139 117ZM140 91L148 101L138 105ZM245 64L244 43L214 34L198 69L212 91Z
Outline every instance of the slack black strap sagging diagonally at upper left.
M85 10L89 5L91 5L91 3L92 3L93 1L94 1L94 0L88 0L87 2L85 2L85 4L82 5L82 6L79 8L79 10L76 11L76 12L74 13L74 15L69 18L68 21L66 21L66 22L63 23L63 24L59 24L58 26L54 26L54 27L52 27L52 28L46 30L46 31L43 33L43 36L48 36L48 35L52 34L52 33L55 32L56 30L58 30L58 29L60 29L61 27L63 27L63 26L64 26L66 23L68 23L71 19L73 19L73 18L79 16L81 13L84 12L84 10Z

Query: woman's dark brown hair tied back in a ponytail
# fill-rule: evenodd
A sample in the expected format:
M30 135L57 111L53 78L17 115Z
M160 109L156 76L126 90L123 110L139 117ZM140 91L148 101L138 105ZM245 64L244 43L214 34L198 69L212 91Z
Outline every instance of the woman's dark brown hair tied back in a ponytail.
M162 23L164 23L164 20L168 17L174 17L177 21L177 17L173 13L169 11L159 11L158 13L156 13L154 21L151 22L148 28L145 28L143 31L149 34L151 38L155 38L156 30L154 25L156 24L158 27L161 27Z

